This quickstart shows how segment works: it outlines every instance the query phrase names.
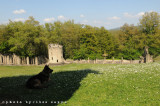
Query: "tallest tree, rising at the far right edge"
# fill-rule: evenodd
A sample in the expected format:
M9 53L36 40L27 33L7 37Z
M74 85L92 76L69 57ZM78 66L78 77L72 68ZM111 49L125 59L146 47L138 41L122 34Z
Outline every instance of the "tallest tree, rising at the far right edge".
M152 55L158 56L160 53L160 14L157 12L146 12L140 19L139 27L141 35L139 37L143 46L148 46Z

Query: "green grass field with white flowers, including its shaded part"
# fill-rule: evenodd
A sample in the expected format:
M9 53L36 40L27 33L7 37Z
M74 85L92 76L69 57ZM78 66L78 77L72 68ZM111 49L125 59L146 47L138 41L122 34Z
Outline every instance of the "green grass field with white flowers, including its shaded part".
M60 106L160 105L160 63L50 66L54 72L47 89L25 88L25 81L43 67L0 66L0 100L47 101L49 106L58 101Z

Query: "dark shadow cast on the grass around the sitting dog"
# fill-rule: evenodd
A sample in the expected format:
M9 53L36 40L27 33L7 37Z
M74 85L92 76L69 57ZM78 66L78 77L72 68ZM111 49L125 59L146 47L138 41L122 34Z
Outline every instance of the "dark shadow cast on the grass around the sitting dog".
M46 89L27 89L25 82L31 76L5 77L0 79L0 103L4 101L31 101L58 104L69 100L79 89L80 82L90 73L97 71L84 69L56 72L51 75L49 87Z

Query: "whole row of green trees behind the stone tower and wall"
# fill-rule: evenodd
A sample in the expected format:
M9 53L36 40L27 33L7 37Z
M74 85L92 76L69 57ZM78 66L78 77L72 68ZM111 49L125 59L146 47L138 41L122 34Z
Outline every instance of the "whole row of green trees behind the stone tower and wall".
M108 31L74 23L73 20L40 25L32 16L25 22L9 21L0 25L0 53L21 57L48 56L48 44L63 45L65 59L137 59L144 47L154 57L160 54L160 15L146 12L138 26L124 24L120 30Z

